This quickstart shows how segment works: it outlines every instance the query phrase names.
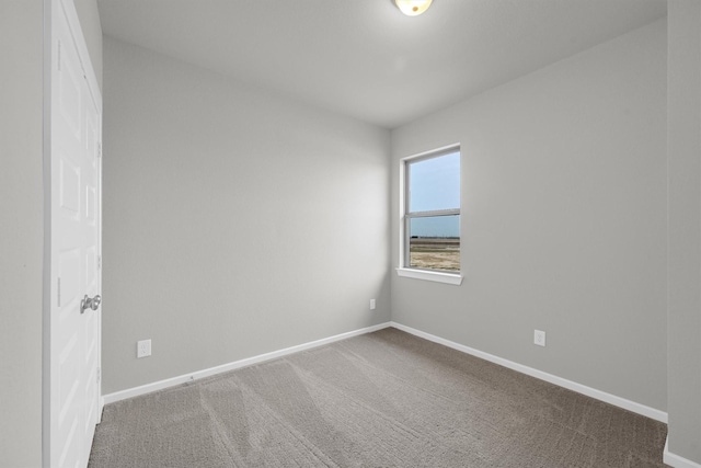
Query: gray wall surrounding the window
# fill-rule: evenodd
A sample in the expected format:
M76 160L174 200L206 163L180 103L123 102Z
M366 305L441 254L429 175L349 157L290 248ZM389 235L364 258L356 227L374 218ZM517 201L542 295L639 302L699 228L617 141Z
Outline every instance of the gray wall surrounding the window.
M392 319L666 410L665 20L393 130L393 219L400 158L452 142L464 281L392 274Z

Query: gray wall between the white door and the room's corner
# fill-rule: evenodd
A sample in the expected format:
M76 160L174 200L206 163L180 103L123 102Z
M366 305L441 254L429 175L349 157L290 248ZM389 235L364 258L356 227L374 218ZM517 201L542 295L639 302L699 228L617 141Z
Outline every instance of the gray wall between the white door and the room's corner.
M388 130L108 37L104 67L105 393L389 320Z

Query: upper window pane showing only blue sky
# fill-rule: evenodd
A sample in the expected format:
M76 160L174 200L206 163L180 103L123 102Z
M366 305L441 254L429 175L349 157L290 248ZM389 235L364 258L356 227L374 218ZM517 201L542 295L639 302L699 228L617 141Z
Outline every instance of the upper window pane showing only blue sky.
M409 212L460 208L460 152L409 164Z

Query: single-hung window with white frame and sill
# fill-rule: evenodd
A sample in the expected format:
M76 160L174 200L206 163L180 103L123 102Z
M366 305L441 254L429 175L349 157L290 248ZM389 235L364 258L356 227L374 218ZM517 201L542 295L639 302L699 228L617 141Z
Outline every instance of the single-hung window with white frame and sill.
M403 163L401 276L460 284L460 148Z

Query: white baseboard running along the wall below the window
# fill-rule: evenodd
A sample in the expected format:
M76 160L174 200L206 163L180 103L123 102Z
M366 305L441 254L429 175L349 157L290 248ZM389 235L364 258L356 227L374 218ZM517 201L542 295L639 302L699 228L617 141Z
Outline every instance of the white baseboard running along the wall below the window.
M430 333L423 332L421 330L413 329L411 327L403 326L397 322L390 322L391 327L395 329L405 331L413 335L423 338L428 341L433 341L434 343L443 344L444 346L452 347L453 350L461 351L467 354L471 354L473 356L480 357L485 361L490 361L494 364L498 364L504 367L508 367L509 369L519 372L521 374L529 375L531 377L539 378L541 380L549 381L551 384L558 385L560 387L564 387L566 389L576 391L577 393L586 395L587 397L595 398L600 401L605 401L607 403L613 404L619 408L623 408L624 410L632 411L637 414L642 414L644 416L654 419L659 422L667 423L667 413L664 411L656 410L654 408L646 407L645 404L636 403L631 400L627 400L625 398L617 397L616 395L607 393L606 391L597 390L591 387L587 387L586 385L577 384L576 381L567 380L562 377L558 377L552 374L544 373L542 370L535 369L532 367L525 366L522 364L515 363L513 361L505 359L503 357L495 356L493 354L489 354L463 344L459 344L449 340L445 340L443 338L433 335ZM681 465L680 465L681 466ZM692 466L692 465L689 465ZM696 467L694 467L696 468ZM701 467L699 467L701 468Z

